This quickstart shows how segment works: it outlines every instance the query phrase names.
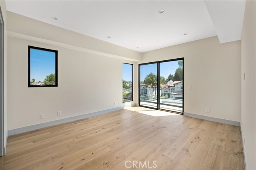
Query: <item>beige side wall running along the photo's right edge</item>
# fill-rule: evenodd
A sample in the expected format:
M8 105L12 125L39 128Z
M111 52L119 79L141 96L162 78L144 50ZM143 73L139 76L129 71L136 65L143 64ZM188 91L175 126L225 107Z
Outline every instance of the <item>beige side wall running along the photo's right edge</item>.
M246 1L241 40L241 129L248 170L256 169L256 3ZM246 79L244 80L244 73ZM243 135L242 134L242 135Z

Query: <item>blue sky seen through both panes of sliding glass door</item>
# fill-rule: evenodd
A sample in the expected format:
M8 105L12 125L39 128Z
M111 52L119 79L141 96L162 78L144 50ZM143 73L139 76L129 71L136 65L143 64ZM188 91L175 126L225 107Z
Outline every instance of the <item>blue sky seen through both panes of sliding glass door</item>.
M175 74L176 69L179 67L178 61L168 61L160 63L160 76L168 78L169 74ZM157 75L157 64L141 65L140 66L140 81L144 81L145 77L153 73Z

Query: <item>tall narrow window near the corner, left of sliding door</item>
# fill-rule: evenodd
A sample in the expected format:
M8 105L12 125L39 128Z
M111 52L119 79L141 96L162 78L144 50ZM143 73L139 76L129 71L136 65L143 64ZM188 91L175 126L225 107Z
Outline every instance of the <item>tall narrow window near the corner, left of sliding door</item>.
M123 102L132 101L133 65L123 63Z

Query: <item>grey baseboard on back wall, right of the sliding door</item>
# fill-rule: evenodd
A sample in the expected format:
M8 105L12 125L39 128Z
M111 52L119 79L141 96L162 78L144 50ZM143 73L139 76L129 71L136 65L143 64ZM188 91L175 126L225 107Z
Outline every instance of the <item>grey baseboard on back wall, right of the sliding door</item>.
M184 112L184 116L194 117L194 118L198 118L198 119L204 119L207 121L213 121L213 122L218 122L218 123L225 123L228 125L234 125L234 126L240 127L240 122L230 121L230 120L226 120L226 119L220 119L220 118L216 118L216 117L208 117L208 116L204 116L204 115L196 115L193 113L186 113L186 112Z

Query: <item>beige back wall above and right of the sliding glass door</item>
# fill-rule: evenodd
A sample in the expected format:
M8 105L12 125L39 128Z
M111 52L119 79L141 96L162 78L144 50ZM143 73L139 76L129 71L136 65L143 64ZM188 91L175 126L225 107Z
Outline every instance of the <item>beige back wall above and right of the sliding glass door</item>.
M240 122L240 41L220 44L215 36L142 53L139 63L181 57L184 112Z

